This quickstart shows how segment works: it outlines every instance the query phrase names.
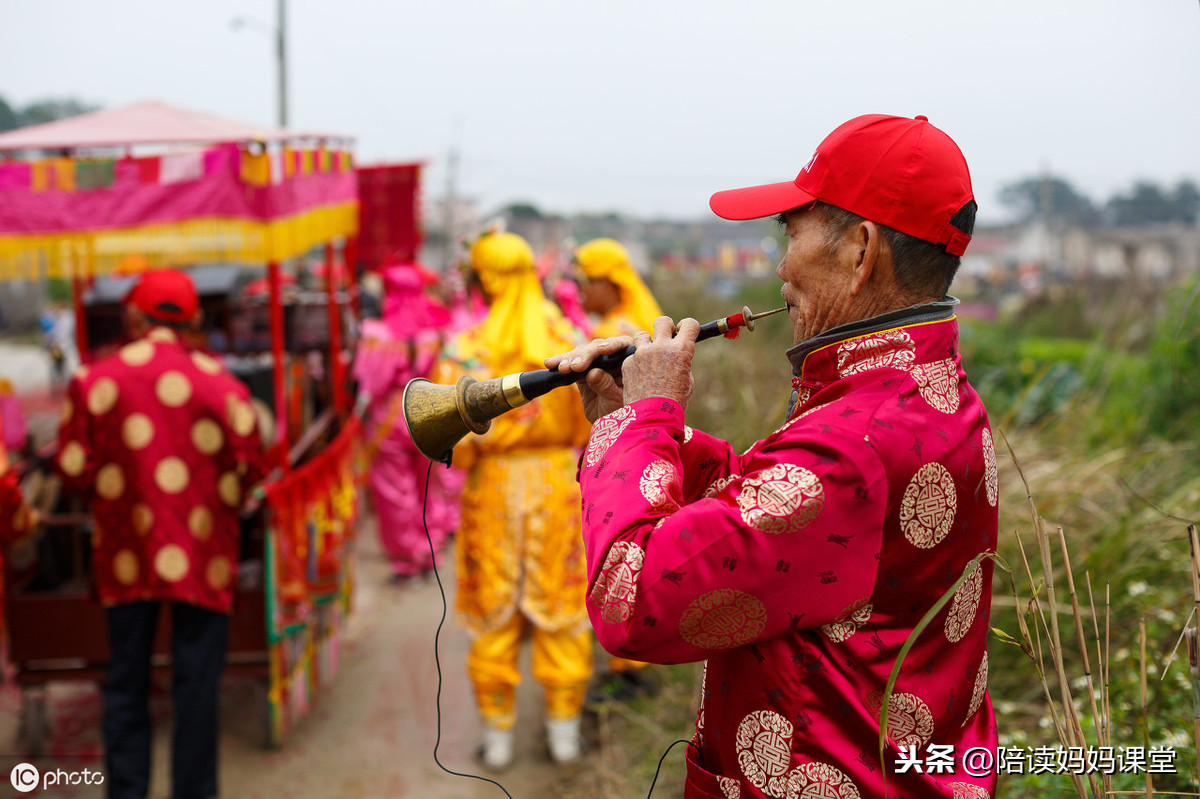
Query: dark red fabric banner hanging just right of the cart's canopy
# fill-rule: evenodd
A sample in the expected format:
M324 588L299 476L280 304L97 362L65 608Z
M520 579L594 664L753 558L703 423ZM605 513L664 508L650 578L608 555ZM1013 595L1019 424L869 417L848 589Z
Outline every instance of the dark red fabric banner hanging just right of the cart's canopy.
M359 262L414 262L421 246L421 164L359 167Z

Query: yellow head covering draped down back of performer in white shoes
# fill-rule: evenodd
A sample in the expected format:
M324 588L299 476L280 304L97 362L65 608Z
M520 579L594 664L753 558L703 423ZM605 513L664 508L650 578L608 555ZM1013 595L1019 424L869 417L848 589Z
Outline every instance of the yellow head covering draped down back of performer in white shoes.
M481 325L487 365L497 374L542 368L562 344L551 334L533 250L515 233L487 233L470 248L470 268L491 300Z

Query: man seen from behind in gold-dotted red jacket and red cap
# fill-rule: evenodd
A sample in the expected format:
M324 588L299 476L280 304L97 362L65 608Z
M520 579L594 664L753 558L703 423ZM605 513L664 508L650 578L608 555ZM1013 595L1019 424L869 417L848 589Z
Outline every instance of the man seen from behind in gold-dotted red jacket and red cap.
M175 799L217 795L217 687L239 551L239 507L262 477L250 392L180 334L198 324L186 272L145 272L125 300L131 342L68 388L58 468L91 501L95 587L107 609L108 795L146 795L150 651L172 603Z

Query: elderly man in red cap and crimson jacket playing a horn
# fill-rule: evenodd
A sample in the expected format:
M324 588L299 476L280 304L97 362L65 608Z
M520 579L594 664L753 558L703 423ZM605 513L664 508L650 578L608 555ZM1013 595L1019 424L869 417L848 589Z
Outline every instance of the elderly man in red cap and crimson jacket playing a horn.
M637 346L580 384L599 641L706 663L686 797L989 797L996 456L946 293L974 223L962 154L924 116L859 116L794 181L710 204L780 215L791 407L743 455L685 426L694 319L546 361Z

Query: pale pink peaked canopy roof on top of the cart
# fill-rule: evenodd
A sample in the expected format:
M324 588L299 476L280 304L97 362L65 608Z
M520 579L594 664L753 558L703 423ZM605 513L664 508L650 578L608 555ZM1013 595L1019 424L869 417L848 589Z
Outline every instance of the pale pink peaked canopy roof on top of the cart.
M348 142L353 137L331 132L287 131L178 108L158 101L145 101L0 133L0 152L298 139Z

